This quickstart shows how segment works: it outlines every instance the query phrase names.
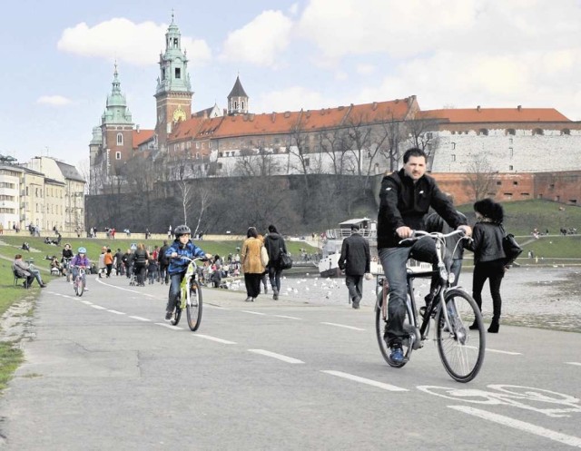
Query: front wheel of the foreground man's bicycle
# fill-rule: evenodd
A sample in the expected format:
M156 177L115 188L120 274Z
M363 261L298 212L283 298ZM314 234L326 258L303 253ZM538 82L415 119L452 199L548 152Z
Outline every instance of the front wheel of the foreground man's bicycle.
M478 375L484 361L486 334L482 315L472 297L462 289L450 289L445 297L452 330L448 330L444 312L436 319L438 353L448 374L458 382L468 382ZM476 321L478 329L468 327Z

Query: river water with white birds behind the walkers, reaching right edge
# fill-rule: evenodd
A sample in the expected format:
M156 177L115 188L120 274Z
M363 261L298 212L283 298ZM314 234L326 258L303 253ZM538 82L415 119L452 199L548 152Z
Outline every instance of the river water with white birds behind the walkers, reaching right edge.
M471 293L471 268L462 272L459 285ZM428 293L428 280L418 279L415 288L416 299L423 298ZM243 291L243 280L232 289ZM362 306L374 305L375 289L375 279L364 281ZM503 299L501 324L581 332L580 268L511 268L502 281L500 294ZM271 297L270 286L268 296ZM321 279L314 268L303 274L283 275L281 299L349 306L345 279ZM488 322L492 316L492 299L487 284L482 290L482 304L482 313Z

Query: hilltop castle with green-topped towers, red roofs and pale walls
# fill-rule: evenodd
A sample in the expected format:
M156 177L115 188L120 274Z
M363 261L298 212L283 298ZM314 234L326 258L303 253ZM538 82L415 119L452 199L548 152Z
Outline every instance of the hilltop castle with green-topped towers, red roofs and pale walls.
M552 108L421 111L416 96L410 95L317 110L251 113L249 95L237 76L227 109L214 104L192 113L188 60L173 15L165 46L154 93L154 130L134 126L115 67L113 90L89 145L92 194L127 189L123 167L134 158L158 162L156 171L165 172L162 181L299 173L379 175L398 169L403 151L412 146L428 153L430 172L454 173L458 181L470 172L513 177L581 170L581 152L576 151L581 147L581 123ZM260 166L266 170L249 172L256 166L249 163L265 159L269 164ZM499 200L518 198L498 195ZM576 199L581 193L563 196Z

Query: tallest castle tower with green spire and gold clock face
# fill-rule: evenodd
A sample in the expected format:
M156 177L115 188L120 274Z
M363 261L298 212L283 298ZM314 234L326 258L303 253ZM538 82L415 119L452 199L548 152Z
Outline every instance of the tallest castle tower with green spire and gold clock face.
M155 134L159 150L167 152L167 139L173 123L189 119L192 115L193 95L188 59L186 52L182 52L182 34L173 23L173 13L172 24L165 34L165 53L160 54L159 64L160 76L155 90Z

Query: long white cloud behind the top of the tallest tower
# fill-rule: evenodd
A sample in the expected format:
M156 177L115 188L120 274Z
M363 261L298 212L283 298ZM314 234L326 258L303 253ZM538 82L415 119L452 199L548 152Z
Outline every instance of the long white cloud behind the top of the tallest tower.
M86 23L66 28L57 48L81 56L101 57L108 60L150 65L159 60L165 50L167 25L153 22L134 24L123 17L113 18L90 27ZM210 47L203 40L182 35L182 50L194 64L204 64L212 57Z

